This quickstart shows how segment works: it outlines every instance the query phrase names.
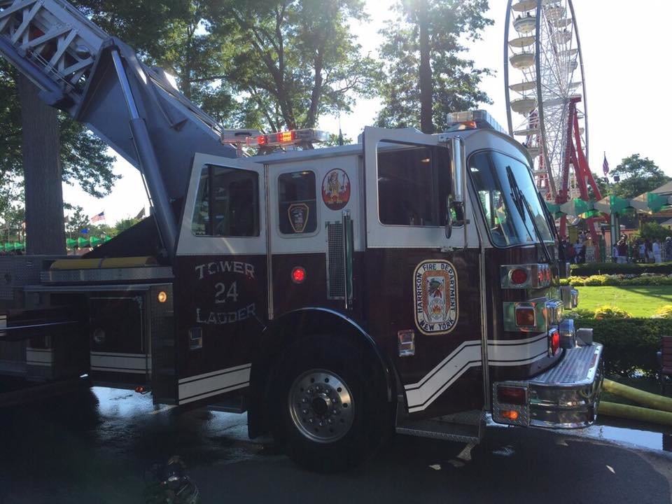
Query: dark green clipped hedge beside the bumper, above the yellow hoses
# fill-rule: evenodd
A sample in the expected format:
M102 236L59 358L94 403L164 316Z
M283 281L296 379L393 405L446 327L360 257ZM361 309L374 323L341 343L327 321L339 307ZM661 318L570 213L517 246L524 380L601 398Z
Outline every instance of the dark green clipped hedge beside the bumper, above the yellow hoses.
M593 328L596 342L604 345L605 370L631 377L659 369L656 351L661 335L672 334L672 320L665 318L575 318L577 328Z

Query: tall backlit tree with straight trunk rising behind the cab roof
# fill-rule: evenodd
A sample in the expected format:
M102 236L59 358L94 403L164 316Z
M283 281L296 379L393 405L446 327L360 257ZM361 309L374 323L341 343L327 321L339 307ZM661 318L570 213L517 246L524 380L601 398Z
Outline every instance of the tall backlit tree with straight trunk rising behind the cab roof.
M462 40L480 38L492 20L484 18L487 0L400 0L397 20L381 31L385 79L379 84L381 127L444 127L449 112L491 103L478 89L489 69L461 57Z

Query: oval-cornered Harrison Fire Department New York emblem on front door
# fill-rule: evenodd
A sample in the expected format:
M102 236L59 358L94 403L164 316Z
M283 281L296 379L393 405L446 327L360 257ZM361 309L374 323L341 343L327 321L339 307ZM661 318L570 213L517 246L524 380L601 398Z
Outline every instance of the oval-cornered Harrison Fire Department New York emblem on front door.
M447 334L458 318L457 273L451 262L423 261L413 274L415 323L426 335Z

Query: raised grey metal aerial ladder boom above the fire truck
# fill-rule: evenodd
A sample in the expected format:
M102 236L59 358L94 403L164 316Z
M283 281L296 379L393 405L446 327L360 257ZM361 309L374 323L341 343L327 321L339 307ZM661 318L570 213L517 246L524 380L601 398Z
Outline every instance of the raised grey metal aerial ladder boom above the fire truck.
M172 202L186 191L195 152L235 158L223 130L181 94L174 78L139 61L62 0L0 0L0 54L41 92L141 172L165 255L174 257ZM125 104L125 106L122 106Z

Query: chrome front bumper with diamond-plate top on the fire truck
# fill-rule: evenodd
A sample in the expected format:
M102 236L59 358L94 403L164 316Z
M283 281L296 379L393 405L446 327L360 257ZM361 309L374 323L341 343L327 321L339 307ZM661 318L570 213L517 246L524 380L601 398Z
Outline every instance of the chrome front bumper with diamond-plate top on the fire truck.
M603 380L602 345L591 343L566 349L552 369L527 381L493 384L492 418L498 423L548 428L587 427L595 421ZM526 390L526 404L498 401L498 387ZM505 416L517 412L517 419ZM509 414L509 416L512 416Z

